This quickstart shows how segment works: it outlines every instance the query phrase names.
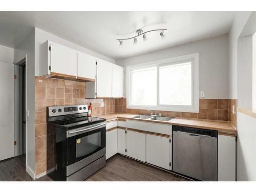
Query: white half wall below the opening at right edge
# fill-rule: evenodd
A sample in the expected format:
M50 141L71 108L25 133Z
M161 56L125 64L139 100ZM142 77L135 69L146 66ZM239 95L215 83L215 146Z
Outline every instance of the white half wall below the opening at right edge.
M256 181L256 119L238 112L237 180Z

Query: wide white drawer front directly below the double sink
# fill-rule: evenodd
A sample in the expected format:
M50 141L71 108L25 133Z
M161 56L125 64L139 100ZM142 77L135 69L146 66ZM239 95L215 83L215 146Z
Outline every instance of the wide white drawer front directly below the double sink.
M126 120L126 126L132 129L137 129L137 130L172 135L172 125L168 125L168 124Z

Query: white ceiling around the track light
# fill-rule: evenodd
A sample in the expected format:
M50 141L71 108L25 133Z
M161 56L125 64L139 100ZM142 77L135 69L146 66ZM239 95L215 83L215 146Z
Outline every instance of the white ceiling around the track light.
M33 29L48 31L80 46L113 59L134 56L150 51L184 44L228 33L235 12L136 12L136 11L17 11L0 12L0 45L14 47ZM165 28L165 39L159 32L147 34L147 41L138 37L123 41L117 38L143 31Z

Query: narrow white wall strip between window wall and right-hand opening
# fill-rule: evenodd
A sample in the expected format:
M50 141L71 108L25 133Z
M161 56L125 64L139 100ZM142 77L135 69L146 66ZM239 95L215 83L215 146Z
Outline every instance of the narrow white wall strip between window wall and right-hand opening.
M229 98L238 98L238 37L242 32L251 11L240 11L237 12L232 27L229 31Z

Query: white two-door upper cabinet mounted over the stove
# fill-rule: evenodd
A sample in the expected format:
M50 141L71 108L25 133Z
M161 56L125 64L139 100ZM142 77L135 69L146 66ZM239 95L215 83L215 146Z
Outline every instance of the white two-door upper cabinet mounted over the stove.
M95 81L96 60L91 55L48 40L40 45L39 76Z

